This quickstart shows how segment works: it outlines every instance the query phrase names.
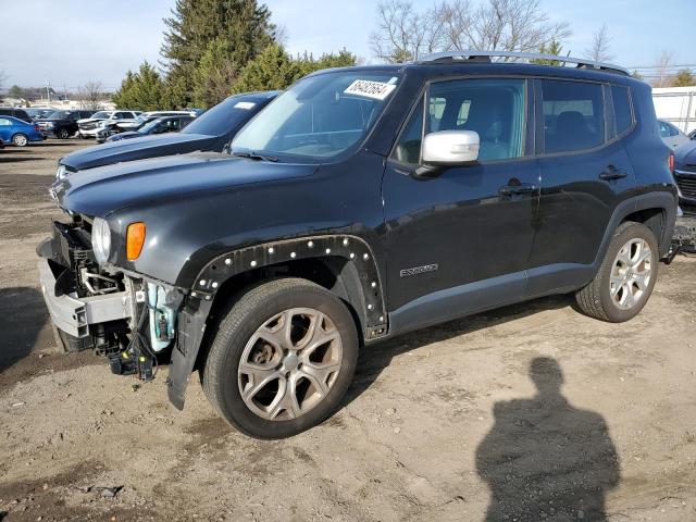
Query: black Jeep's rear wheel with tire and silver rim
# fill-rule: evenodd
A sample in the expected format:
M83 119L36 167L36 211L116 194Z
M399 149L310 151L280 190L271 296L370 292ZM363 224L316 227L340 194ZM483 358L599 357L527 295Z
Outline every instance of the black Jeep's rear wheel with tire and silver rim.
M622 223L595 278L575 294L580 309L591 318L610 323L635 318L655 287L658 252L657 238L650 228L641 223ZM645 259L638 262L642 258Z

